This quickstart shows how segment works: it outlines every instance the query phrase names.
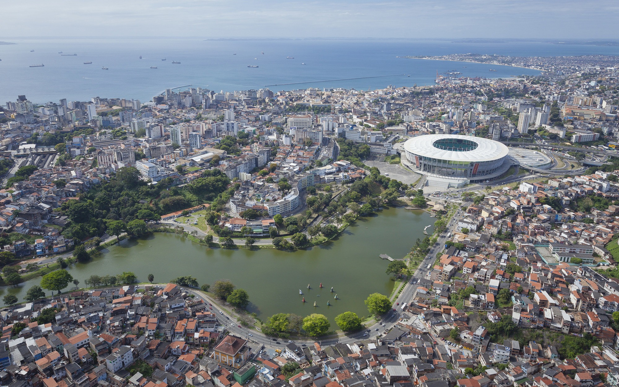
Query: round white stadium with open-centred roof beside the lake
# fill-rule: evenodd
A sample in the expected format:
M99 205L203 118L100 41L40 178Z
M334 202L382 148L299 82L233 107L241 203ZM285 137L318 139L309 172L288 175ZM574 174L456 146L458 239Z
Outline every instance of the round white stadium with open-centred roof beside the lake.
M496 178L511 165L508 147L498 141L457 134L427 134L404 143L410 166L423 175L461 186Z

